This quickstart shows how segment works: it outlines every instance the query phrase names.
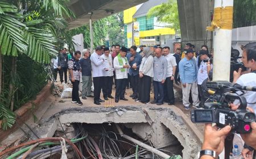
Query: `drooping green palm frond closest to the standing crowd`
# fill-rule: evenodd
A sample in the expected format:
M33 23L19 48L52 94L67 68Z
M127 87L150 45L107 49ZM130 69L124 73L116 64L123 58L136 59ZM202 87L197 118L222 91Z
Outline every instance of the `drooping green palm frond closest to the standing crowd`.
M56 39L47 30L30 27L27 30L28 49L26 55L36 62L49 63L49 56L57 55Z

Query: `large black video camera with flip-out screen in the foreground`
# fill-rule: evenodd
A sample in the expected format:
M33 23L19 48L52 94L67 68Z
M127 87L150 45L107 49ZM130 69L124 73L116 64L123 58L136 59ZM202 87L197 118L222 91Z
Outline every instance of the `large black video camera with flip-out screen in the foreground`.
M191 120L193 123L216 123L222 128L226 125L232 127L232 132L251 132L250 123L255 121L255 114L246 110L247 102L245 97L237 94L237 91L244 93L244 90L256 91L256 87L241 86L228 81L207 82L210 101L205 103L204 110L192 110ZM231 110L229 103L238 99L240 106L236 111Z

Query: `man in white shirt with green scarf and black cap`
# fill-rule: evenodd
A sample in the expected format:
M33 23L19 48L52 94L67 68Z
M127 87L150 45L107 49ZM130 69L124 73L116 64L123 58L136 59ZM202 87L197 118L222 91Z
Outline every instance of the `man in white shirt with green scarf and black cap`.
M125 98L125 84L128 69L130 68L128 64L128 60L125 57L127 53L127 48L122 47L120 49L119 54L114 58L113 65L115 69L115 79L117 81L116 83L116 89L115 89L115 103L118 103L119 99L123 101L128 101L128 99Z

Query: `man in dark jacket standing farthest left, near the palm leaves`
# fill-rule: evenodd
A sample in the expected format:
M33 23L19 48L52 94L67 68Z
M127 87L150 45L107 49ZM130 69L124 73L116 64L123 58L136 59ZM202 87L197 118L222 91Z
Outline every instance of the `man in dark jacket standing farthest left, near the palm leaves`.
M60 67L60 82L63 82L63 73L64 73L64 79L65 83L68 82L67 78L67 72L68 72L68 55L67 55L67 49L61 49L59 53L59 61L58 61L58 67Z

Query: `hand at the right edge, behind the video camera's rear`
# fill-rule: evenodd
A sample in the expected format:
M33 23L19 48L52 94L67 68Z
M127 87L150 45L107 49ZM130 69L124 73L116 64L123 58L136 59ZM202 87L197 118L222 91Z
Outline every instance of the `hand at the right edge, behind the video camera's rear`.
M251 122L251 132L240 134L245 144L256 149L256 123Z

